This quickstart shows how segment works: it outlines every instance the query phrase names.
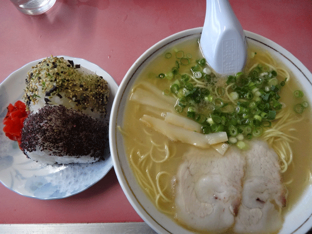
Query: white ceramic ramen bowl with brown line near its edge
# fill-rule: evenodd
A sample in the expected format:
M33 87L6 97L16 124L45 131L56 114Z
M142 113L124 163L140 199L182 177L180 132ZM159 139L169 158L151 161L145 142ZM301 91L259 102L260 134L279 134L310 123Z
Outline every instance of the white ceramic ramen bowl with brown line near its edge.
M177 225L171 218L159 212L149 198L144 194L137 184L132 169L129 166L125 155L123 138L117 131L117 126L122 126L123 112L126 100L131 87L138 74L141 72L151 59L161 54L164 50L174 46L181 41L199 38L202 28L194 28L174 34L163 39L148 49L127 72L123 78L115 97L112 113L110 117L110 148L113 157L115 172L118 181L127 196L128 200L137 211L138 215L157 233L191 233ZM274 57L282 61L289 70L300 79L306 94L309 94L309 101L312 103L312 74L309 70L291 53L274 43L273 41L245 31L247 42L253 43L269 51ZM283 228L279 234L304 234L312 227L312 187L309 186L303 193L300 201L285 217Z

